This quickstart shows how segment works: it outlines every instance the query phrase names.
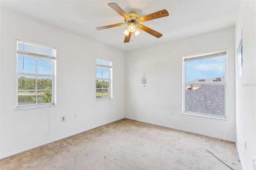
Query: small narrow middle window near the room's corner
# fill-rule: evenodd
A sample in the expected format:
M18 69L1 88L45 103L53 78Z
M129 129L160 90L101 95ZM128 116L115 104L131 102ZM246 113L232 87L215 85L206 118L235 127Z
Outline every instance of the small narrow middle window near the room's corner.
M96 59L96 99L111 98L112 61Z

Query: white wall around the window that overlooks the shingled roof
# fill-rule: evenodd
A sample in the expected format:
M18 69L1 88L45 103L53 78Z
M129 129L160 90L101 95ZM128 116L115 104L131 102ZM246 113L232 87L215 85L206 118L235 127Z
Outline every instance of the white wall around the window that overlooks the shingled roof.
M126 118L235 141L234 42L232 27L127 52ZM225 48L228 49L228 120L182 114L182 55ZM143 73L147 79L145 87L141 83Z

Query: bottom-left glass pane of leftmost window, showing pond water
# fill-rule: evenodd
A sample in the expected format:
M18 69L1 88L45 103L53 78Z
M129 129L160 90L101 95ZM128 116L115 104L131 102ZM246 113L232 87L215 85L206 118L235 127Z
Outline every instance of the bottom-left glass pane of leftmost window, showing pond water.
M18 105L31 105L36 101L36 91L19 91Z

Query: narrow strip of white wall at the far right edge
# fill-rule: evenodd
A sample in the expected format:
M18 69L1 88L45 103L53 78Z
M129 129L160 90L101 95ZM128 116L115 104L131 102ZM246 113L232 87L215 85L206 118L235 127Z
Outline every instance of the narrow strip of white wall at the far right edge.
M236 146L242 168L256 159L256 2L242 1L236 23L236 48L243 30L243 77L236 79ZM244 146L246 140L246 149Z

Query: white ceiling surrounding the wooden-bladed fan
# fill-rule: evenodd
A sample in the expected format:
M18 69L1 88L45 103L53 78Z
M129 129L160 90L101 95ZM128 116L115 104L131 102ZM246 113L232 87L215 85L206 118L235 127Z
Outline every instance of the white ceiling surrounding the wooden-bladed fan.
M238 0L1 0L1 8L34 18L51 26L112 46L122 51L148 47L180 38L235 26ZM96 30L96 27L124 22L108 3L116 3L126 14L139 16L166 9L169 16L143 22L163 34L155 38L141 30L136 38L124 43L125 26Z

